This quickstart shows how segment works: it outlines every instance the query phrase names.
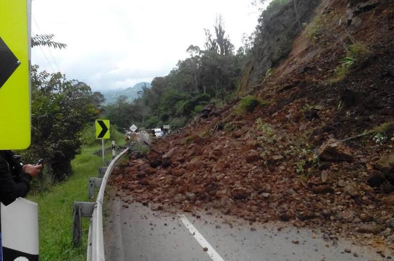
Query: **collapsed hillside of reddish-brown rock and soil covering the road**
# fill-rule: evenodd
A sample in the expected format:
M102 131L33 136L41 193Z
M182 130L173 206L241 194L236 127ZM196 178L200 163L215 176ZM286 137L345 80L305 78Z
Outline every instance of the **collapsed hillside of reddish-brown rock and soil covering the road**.
M253 96L204 107L113 182L164 209L320 228L391 256L394 2L300 2L299 21L292 3L265 17L242 81Z

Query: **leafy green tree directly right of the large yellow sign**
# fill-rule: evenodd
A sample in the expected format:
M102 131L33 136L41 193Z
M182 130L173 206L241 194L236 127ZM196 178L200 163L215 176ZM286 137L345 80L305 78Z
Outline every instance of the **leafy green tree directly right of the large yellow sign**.
M45 159L50 180L71 174L70 162L82 146L80 132L98 117L100 97L83 82L32 66L32 145L25 154L31 161Z

